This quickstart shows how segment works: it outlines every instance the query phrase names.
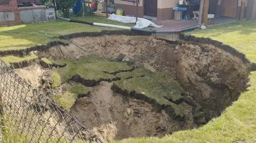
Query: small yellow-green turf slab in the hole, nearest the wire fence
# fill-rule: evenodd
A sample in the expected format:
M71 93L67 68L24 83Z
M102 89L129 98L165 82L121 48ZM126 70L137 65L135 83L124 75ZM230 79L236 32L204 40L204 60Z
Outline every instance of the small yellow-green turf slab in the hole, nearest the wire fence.
M62 95L55 95L52 97L55 102L62 106L66 111L70 111L70 108L75 104L75 101L79 95L86 95L90 90L85 86L76 83L71 86Z

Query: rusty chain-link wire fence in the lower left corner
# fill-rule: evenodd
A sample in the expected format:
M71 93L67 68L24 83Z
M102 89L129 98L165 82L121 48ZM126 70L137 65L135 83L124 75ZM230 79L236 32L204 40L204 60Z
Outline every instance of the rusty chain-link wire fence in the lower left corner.
M0 61L2 124L17 142L102 142ZM4 136L4 138L6 138Z

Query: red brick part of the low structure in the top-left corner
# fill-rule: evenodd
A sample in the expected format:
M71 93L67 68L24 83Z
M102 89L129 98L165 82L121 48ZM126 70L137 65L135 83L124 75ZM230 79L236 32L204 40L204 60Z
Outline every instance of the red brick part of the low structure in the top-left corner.
M14 13L14 21L2 21L0 25L7 25L7 24L17 24L21 22L20 19L20 12L18 10L16 0L10 0L10 3L7 5L0 5L0 12L13 12Z

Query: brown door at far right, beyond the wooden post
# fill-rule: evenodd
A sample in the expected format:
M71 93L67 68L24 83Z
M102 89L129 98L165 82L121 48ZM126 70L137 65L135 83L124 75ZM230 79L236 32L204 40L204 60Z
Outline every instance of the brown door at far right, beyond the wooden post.
M237 17L238 0L222 0L221 16L236 18Z

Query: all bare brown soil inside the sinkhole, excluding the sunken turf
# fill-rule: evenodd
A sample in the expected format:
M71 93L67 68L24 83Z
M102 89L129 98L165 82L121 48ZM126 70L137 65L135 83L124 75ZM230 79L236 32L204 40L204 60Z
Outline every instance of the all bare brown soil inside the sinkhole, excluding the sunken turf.
M124 35L72 40L87 52L101 57L115 60L123 54L123 60L132 60L135 65L143 65L151 71L170 72L171 78L187 91L183 95L186 100L177 103L184 107L185 117L175 119L165 112L164 107L117 94L111 90L112 81L102 81L90 87L91 95L77 99L70 114L104 140L162 137L198 127L219 116L237 100L249 81L249 70L243 59L211 44L189 44L188 41L174 44L152 36ZM61 49L67 58L77 59L88 54L73 44L61 46ZM52 47L38 52L38 57L56 60L62 59L63 55L59 47ZM33 80L30 82L36 87L39 86L38 76L43 75L42 70L29 68L17 72L25 79Z

